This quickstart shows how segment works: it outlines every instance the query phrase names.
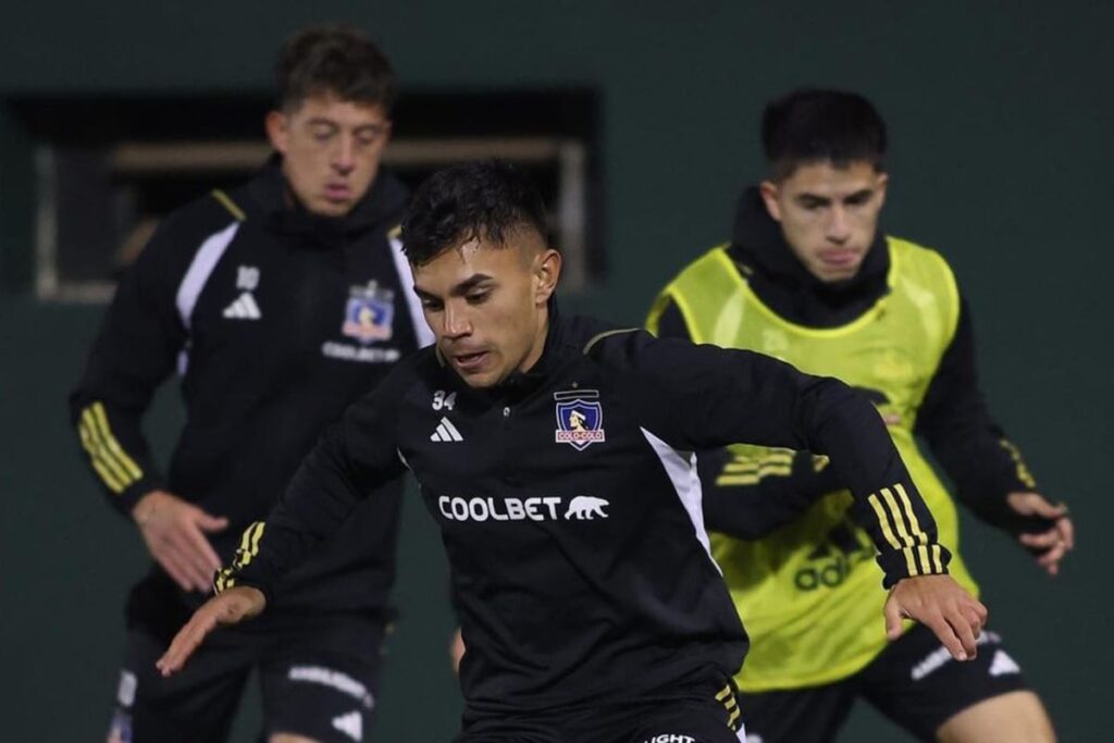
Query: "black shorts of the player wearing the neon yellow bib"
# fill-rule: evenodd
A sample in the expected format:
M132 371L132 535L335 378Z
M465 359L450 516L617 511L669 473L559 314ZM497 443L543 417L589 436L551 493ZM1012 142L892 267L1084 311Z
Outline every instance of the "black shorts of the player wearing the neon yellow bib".
M1022 669L989 630L978 656L959 663L930 629L917 625L859 673L823 686L740 693L747 743L834 741L858 697L921 741L952 715L979 702L1028 690Z

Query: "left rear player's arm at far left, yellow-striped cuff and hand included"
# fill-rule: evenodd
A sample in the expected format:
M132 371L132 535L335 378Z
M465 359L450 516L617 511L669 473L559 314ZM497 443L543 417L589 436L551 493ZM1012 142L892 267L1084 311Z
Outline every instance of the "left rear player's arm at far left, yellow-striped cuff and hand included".
M70 422L109 504L129 516L152 557L184 590L206 590L219 567L206 531L226 521L167 490L143 417L187 340L176 297L205 228L168 217L124 274L70 394Z

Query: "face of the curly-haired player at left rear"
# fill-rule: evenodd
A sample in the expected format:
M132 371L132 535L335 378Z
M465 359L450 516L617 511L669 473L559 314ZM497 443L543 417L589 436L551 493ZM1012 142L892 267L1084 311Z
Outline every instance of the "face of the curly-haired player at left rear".
M344 216L368 193L391 135L381 106L331 94L306 98L291 111L271 111L266 125L297 201L330 217Z

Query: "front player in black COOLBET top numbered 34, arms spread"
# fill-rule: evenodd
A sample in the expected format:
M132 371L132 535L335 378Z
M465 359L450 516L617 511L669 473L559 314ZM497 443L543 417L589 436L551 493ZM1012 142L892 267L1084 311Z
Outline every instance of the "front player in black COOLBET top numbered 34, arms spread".
M282 600L281 576L409 468L442 530L468 645L459 741L742 741L731 675L746 636L709 554L690 453L740 439L830 454L866 511L900 493L905 508L871 529L887 616L929 623L973 656L985 608L946 575L949 554L870 403L759 354L560 315L545 224L506 164L449 168L418 189L403 242L436 346L325 436L160 671L218 624Z

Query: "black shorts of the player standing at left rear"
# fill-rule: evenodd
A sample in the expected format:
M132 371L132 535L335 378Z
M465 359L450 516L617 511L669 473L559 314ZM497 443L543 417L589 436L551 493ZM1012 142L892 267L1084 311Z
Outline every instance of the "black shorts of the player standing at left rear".
M110 743L226 740L253 669L263 692L264 740L278 732L322 743L368 740L384 635L378 615L264 614L214 632L169 678L155 661L180 622L165 619L129 622Z

